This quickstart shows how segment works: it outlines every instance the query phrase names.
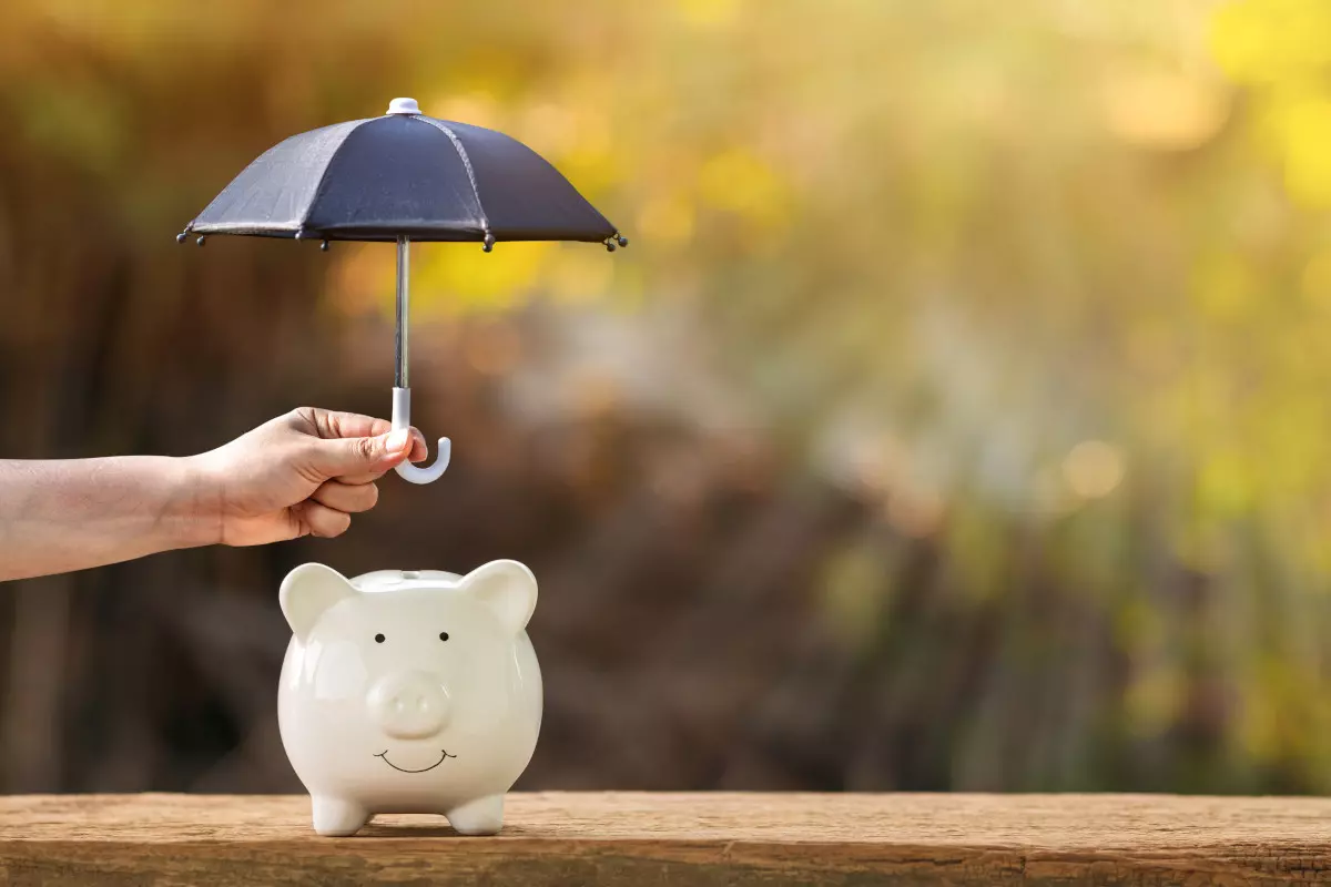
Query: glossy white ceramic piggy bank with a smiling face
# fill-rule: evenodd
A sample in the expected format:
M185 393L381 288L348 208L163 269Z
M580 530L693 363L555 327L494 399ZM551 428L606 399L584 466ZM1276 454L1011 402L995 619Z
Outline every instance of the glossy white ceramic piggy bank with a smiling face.
M536 747L540 669L526 625L536 580L516 561L466 576L322 564L282 581L294 636L282 662L282 745L314 831L377 813L441 813L465 835L503 826L503 797Z

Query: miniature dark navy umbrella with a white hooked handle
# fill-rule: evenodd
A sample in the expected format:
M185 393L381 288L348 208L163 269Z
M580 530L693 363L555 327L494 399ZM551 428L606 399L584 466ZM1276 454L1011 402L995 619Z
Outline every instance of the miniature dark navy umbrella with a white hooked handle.
M411 424L407 375L407 245L471 241L600 242L627 246L615 226L522 142L480 126L435 120L414 98L383 117L334 124L270 148L177 237L248 234L329 241L395 241L397 378L393 427ZM427 484L449 467L450 443L429 468L397 472Z

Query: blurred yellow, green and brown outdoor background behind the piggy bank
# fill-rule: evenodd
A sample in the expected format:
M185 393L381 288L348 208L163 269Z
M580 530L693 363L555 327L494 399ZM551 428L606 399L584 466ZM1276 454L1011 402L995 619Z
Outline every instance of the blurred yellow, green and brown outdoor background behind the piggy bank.
M415 96L632 238L414 247L433 487L0 596L0 790L286 791L285 570L532 567L520 786L1331 791L1331 7L0 9L0 453L385 415L393 250L174 234Z

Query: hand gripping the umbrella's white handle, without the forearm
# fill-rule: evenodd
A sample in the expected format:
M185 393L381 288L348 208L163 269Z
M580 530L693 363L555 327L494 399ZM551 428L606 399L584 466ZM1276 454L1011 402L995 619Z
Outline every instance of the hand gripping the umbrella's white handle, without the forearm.
M351 515L374 508L374 481L403 460L427 455L415 428L313 407L293 410L236 440L194 456L225 545L262 545L297 536L341 536Z

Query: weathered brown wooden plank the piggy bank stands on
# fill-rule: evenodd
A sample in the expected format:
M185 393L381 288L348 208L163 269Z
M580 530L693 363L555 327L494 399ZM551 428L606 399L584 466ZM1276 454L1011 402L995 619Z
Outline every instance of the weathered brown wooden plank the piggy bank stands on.
M1331 801L514 794L495 838L303 797L0 798L4 884L1239 884L1331 880Z

